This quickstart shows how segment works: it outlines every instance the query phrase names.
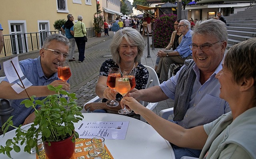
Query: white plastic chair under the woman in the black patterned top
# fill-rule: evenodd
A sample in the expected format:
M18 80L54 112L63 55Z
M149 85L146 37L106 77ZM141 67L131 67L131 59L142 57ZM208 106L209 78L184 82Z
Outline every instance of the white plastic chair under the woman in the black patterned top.
M155 86L155 85L160 85L155 70L153 68L149 67L149 66L145 66L145 67L148 69L148 73L149 73L148 83L146 84L146 88L149 88L149 87L152 87L152 86ZM101 98L98 97L98 95L97 95L96 97L94 97L93 99L91 99L90 101L85 103L84 105L86 105L88 103L92 103L92 102L99 102L100 100L101 100ZM153 110L156 107L156 105L158 104L158 102L148 103L148 102L145 102L145 101L141 101L141 104L144 105L146 108L148 108L150 110ZM82 109L82 112L83 113L86 112L84 108ZM142 116L140 116L140 120L146 122L146 120Z

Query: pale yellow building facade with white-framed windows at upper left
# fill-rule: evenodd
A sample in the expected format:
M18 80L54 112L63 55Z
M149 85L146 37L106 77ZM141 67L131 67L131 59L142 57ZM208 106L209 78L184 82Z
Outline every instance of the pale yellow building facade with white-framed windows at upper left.
M0 5L3 35L11 34L4 36L5 52L3 49L0 58L32 51L31 48L34 47L29 45L37 45L40 49L45 34L51 34L50 31L55 30L54 22L59 19L67 20L68 14L74 16L74 22L77 21L78 15L83 16L86 28L92 28L96 12L96 0L2 0ZM41 37L31 44L29 41L34 41L35 35L31 34L30 37L30 34L26 33L35 32L45 34L37 35ZM11 52L7 52L10 48Z

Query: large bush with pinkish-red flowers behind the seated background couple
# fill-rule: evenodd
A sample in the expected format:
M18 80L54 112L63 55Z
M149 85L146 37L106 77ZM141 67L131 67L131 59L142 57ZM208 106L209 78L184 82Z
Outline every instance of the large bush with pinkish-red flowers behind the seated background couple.
M155 48L165 48L168 46L172 32L174 31L174 22L177 20L176 14L165 14L158 17L154 24L154 46Z

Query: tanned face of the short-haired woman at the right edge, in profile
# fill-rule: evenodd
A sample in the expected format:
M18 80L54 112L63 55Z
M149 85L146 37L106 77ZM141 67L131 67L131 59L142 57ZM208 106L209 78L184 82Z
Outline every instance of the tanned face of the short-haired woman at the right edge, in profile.
M215 76L220 82L220 98L226 101L238 98L239 86L234 82L232 73L222 63L222 70Z

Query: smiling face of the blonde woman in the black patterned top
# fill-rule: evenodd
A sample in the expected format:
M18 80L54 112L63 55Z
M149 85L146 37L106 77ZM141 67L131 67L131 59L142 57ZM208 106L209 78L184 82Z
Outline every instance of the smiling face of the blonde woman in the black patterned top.
M123 38L120 46L119 46L119 55L121 58L121 62L134 62L135 57L138 54L138 47L131 46L125 38Z

